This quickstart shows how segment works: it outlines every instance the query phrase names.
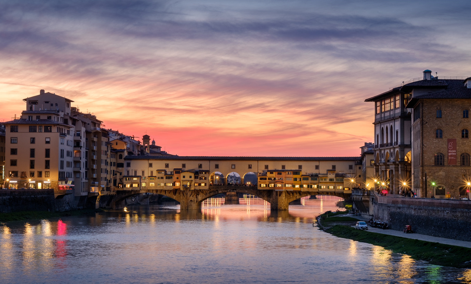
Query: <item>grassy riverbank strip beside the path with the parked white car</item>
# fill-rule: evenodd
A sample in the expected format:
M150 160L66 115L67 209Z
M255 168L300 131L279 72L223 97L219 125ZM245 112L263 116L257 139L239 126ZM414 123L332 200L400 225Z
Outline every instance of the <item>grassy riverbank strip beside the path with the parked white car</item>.
M438 242L425 242L403 237L355 230L353 227L336 225L325 232L334 236L382 246L386 250L410 255L413 259L449 267L471 267L471 249Z

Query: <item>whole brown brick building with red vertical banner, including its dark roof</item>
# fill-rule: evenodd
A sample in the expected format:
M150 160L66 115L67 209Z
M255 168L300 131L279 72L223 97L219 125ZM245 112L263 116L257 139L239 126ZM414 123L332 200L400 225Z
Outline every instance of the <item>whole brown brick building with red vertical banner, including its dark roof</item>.
M471 182L471 79L446 82L439 91L413 94L413 190L422 197L469 197Z

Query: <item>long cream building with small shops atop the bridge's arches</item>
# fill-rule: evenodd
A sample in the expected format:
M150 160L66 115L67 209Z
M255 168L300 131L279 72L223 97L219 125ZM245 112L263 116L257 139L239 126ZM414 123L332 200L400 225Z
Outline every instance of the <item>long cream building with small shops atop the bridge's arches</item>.
M226 184L234 173L240 176L241 184L249 185L244 183L244 176L250 173L258 176L259 189L301 190L305 185L319 185L325 186L326 192L343 192L361 186L359 160L360 157L126 156L123 188L146 189L143 186L148 183L144 181L155 178L151 189L207 189L211 184ZM278 172L286 179L278 181L281 188L276 187L280 187L276 184ZM223 177L217 178L218 175ZM325 181L317 180L324 175ZM311 176L316 180L311 182ZM303 178L308 178L309 183Z

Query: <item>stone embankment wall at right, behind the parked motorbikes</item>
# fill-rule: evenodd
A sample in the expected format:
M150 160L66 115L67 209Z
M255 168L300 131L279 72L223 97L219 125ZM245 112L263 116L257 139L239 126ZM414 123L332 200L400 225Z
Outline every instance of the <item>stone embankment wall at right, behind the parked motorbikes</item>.
M379 196L372 202L374 219L391 229L411 225L414 233L471 242L471 200Z

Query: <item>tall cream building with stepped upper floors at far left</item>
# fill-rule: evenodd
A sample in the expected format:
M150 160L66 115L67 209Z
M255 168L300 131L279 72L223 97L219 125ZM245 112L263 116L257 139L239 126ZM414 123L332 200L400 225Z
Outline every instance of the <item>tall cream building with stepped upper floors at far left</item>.
M41 90L24 102L21 117L4 123L6 186L57 189L60 184L72 184L73 100Z

